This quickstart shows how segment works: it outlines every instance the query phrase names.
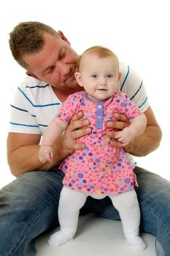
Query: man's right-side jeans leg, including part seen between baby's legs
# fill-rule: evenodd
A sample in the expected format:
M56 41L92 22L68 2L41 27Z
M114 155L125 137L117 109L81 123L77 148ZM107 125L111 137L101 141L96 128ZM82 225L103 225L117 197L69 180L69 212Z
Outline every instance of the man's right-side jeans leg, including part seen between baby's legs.
M168 171L168 170L167 170ZM139 187L136 194L141 209L140 228L156 236L155 251L157 256L170 255L170 181L150 173L140 167L134 172ZM98 216L107 219L120 219L118 211L112 206L109 197L88 203Z

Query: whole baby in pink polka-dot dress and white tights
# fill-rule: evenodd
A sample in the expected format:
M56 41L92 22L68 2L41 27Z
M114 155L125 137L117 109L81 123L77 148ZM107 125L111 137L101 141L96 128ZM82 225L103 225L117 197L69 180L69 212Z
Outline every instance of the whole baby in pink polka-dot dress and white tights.
M92 132L77 140L85 142L86 148L74 151L60 166L65 173L58 206L61 230L50 236L49 244L60 246L72 240L80 208L88 196L96 199L108 196L119 211L129 247L134 252L141 252L146 245L139 237L140 210L134 190L137 186L134 166L123 148L110 146L106 123L114 121L113 113L128 117L130 125L117 131L115 137L125 146L144 132L147 118L126 94L117 91L119 61L111 50L101 46L85 50L80 56L75 78L84 91L69 95L61 105L42 138L39 160L52 161L53 143L77 111L82 110L89 119Z

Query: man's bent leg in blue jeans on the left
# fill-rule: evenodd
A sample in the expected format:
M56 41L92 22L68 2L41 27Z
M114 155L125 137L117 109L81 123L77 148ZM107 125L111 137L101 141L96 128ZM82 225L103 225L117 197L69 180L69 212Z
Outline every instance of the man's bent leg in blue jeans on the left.
M33 256L35 238L58 225L63 173L33 171L0 190L0 255Z

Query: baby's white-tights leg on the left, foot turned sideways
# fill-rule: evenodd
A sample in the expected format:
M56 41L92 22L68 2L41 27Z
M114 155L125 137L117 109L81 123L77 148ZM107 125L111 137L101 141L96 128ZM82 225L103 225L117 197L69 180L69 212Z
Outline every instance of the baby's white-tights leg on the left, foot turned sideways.
M84 193L63 187L58 206L61 230L50 236L48 243L51 246L60 246L72 240L77 231L80 208L85 204L86 198Z

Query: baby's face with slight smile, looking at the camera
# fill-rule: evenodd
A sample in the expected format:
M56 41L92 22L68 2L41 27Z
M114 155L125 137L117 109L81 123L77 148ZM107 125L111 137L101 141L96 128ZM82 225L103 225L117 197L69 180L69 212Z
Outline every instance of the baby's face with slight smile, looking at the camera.
M85 91L93 100L104 101L117 91L118 62L114 57L99 59L96 55L82 58L80 75Z

